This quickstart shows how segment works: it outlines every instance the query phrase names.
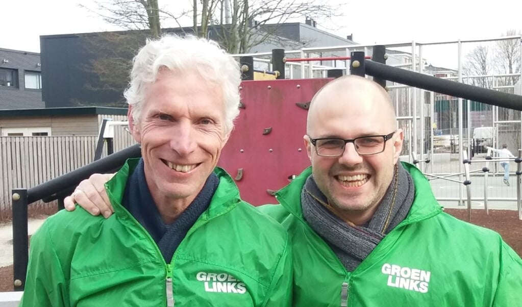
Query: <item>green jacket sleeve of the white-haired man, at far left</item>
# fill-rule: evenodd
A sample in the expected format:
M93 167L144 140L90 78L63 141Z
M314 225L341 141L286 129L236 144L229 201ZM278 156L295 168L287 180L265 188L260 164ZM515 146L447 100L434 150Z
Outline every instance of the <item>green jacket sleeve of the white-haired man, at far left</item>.
M19 306L69 306L67 282L48 222L31 237L26 285Z

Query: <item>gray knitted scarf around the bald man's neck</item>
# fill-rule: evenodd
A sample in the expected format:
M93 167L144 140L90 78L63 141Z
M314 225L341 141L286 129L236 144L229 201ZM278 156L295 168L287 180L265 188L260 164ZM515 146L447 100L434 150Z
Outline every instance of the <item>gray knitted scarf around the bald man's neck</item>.
M410 174L397 162L388 191L374 216L363 226L349 225L325 207L323 204L328 204L328 200L312 175L301 192L301 204L303 217L310 227L328 243L346 269L353 271L384 236L406 218L414 194Z

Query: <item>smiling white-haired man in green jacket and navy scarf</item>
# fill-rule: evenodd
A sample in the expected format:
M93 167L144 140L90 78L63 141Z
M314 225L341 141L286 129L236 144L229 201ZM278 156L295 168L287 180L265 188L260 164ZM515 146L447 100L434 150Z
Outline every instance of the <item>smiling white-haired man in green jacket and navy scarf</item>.
M125 91L143 158L106 184L108 219L58 212L34 234L21 306L290 305L287 233L216 168L240 80L216 43L147 42Z

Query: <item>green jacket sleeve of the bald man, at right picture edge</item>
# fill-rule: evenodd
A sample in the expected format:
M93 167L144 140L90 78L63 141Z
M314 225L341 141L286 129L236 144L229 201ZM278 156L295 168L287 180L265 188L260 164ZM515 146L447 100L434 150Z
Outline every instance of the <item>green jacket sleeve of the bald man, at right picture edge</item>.
M502 243L499 284L493 307L522 304L522 259L506 243Z

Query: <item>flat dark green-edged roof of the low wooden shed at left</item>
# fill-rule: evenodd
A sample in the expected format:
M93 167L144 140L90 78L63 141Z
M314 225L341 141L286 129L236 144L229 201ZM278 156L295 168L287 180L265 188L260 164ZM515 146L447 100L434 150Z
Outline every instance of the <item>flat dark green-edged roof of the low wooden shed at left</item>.
M127 115L127 108L74 107L0 110L0 117L74 116L74 115Z

